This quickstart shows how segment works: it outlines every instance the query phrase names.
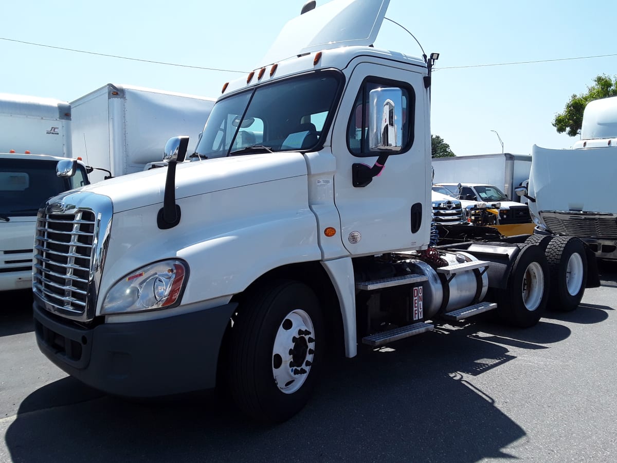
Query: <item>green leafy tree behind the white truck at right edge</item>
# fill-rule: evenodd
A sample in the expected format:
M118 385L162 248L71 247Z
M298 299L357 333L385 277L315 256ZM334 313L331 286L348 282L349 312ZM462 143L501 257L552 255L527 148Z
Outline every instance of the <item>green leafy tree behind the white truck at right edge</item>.
M611 78L606 74L598 75L594 78L594 85L587 86L585 93L570 97L563 112L555 115L553 127L558 133L567 131L569 136L578 135L581 133L582 113L587 103L607 96L617 96L617 76Z

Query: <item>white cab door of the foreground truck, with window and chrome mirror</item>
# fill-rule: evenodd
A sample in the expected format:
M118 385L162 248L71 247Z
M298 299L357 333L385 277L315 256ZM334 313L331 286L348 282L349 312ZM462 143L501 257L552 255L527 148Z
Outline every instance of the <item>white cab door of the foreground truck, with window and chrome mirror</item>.
M332 141L342 241L355 256L422 248L431 221L423 75L370 62L352 69Z

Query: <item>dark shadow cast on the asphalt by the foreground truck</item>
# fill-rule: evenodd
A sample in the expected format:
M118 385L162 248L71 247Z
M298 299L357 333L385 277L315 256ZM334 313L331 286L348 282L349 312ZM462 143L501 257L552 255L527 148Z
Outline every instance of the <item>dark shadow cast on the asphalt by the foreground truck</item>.
M329 359L309 404L286 423L247 420L213 391L136 404L73 378L40 388L20 404L6 432L17 462L62 461L457 461L513 458L502 449L531 439L470 378L569 336L540 322L512 330L480 322L444 325L389 344L359 346ZM469 375L469 377L467 376ZM524 401L529 384L521 381Z

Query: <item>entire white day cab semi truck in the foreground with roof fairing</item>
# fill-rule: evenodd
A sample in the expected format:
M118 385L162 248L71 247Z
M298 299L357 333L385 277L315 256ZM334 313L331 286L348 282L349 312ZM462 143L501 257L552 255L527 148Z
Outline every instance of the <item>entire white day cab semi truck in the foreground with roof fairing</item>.
M188 140L172 138L168 167L48 201L33 290L52 362L121 396L224 385L280 422L337 346L354 357L444 319L494 310L529 327L549 299L578 305L578 238L429 248L434 60L371 46L387 5L292 19L262 67L223 86L201 161L180 162ZM578 272L553 272L572 255Z

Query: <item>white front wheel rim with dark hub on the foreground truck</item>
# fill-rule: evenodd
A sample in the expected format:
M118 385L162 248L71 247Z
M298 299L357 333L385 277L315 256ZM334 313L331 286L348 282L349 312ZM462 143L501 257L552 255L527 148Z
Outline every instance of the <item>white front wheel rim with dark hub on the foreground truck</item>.
M279 390L293 394L306 379L315 356L315 330L307 312L297 309L281 322L272 349L272 374Z

